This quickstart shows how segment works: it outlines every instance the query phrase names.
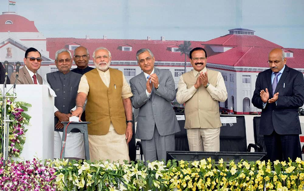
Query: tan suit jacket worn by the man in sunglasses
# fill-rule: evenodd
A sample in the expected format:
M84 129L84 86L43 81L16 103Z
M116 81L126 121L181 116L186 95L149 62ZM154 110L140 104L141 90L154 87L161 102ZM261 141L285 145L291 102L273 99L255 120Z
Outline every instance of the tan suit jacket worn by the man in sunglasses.
M11 75L11 84L14 84L16 80L16 72L13 72ZM37 74L37 83L42 84L42 77ZM29 72L27 71L26 67L22 67L19 70L19 75L16 84L34 84L32 81L32 76L29 75Z

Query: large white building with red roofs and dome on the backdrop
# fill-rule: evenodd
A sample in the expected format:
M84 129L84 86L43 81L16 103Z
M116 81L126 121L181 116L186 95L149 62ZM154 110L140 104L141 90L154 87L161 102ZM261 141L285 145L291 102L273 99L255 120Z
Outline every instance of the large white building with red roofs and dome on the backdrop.
M24 26L24 27L20 27ZM220 107L233 110L236 114L260 112L251 104L258 72L269 68L268 53L271 49L282 48L287 56L287 65L304 73L302 61L304 49L284 48L254 35L253 30L234 28L229 34L209 41L190 41L191 47L203 47L207 51L207 67L222 73L225 80L228 99L221 102ZM112 55L111 67L124 72L127 81L140 74L141 69L136 62L136 52L142 48L150 49L155 57L155 67L172 72L177 87L179 76L184 73L185 56L179 52L178 45L184 41L147 39L90 39L85 38L44 38L33 21L3 12L0 15L0 61L8 60L12 65L23 61L24 52L29 47L41 51L43 62L38 73L44 76L48 72L57 71L54 64L55 52L69 49L74 53L78 46L85 46L91 55L89 65L92 67L92 55L96 48L106 47ZM8 49L12 56L8 56ZM23 55L22 55L23 54ZM73 65L72 68L76 68ZM192 66L187 57L187 71Z

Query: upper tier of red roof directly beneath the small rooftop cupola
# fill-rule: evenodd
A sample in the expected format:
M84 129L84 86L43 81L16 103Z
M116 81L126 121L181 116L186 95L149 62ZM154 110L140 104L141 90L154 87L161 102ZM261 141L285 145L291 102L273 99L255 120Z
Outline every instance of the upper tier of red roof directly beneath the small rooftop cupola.
M203 42L204 45L222 45L222 46L255 46L255 47L272 47L283 48L273 42L258 37L256 35L237 35L228 34L218 38Z

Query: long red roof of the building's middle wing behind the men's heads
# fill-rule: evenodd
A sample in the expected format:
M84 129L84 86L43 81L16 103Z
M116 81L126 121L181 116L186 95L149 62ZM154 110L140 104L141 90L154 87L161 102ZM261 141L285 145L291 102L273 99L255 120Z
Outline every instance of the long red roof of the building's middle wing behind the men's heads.
M113 61L136 61L136 52L142 48L150 49L159 62L184 62L185 56L180 52L171 52L167 48L182 44L184 41L161 41L161 40L135 40L135 39L76 39L76 38L47 38L47 51L50 52L50 58L54 59L55 52L65 48L66 44L75 42L85 46L89 54L92 55L98 47L106 47L111 52ZM122 45L132 46L132 51L122 51L119 49ZM191 41L191 47L204 47L202 42ZM71 51L73 54L73 51ZM91 58L92 59L92 58ZM187 57L187 62L189 58Z

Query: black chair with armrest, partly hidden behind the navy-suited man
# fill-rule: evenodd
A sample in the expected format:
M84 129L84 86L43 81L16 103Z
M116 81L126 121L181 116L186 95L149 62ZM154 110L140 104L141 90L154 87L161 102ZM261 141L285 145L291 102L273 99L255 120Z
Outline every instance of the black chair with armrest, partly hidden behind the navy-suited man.
M247 152L250 152L251 148L254 148L254 152L267 152L264 142L264 136L260 135L260 119L260 116L253 118L253 132L255 143L248 144Z

